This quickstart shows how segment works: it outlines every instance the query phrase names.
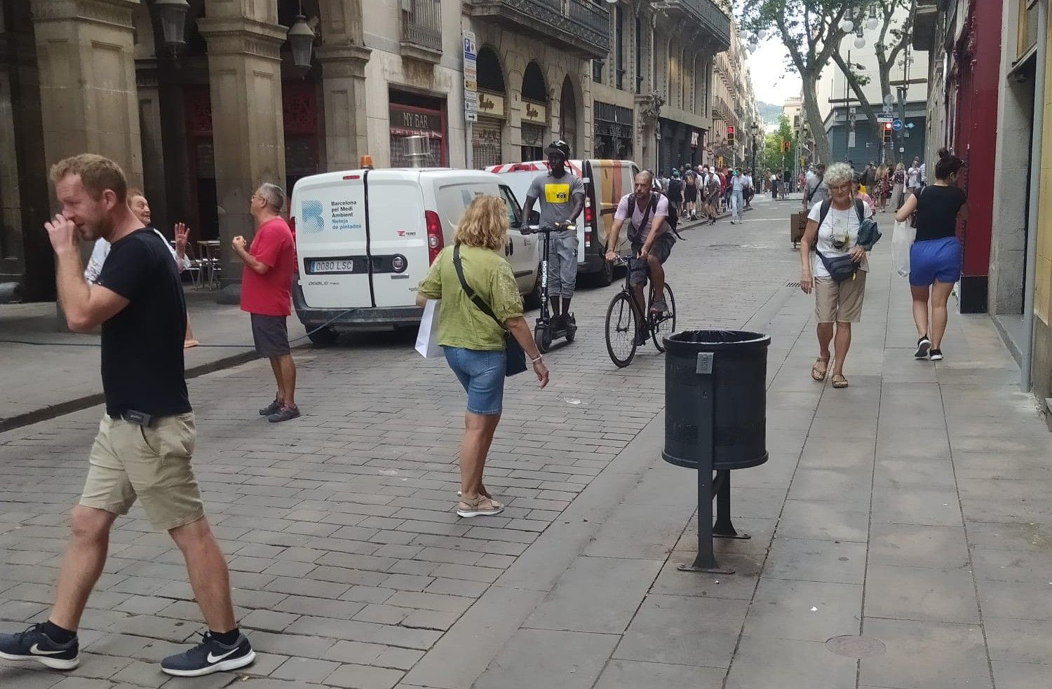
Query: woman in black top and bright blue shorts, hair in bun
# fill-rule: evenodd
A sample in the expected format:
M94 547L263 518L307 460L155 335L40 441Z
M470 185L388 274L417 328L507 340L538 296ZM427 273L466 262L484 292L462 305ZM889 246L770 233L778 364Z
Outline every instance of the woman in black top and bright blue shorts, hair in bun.
M913 322L919 337L913 352L915 359L943 361L943 335L948 319L946 302L960 278L957 218L968 217L968 199L957 187L957 175L964 166L963 160L939 148L935 183L911 195L895 214L895 220L905 221L916 211L917 236L910 247Z

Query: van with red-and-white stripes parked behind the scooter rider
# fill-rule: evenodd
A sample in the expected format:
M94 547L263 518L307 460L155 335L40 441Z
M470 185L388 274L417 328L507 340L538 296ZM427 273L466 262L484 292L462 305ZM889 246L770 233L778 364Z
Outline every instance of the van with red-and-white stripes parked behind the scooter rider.
M595 276L603 285L613 281L613 264L607 263L606 232L613 222L618 202L632 192L639 166L630 160L571 160L570 173L585 184L585 208L578 221L578 272ZM487 171L500 176L523 203L533 178L548 174L548 162L535 160L524 163L491 165ZM533 209L538 206L534 204ZM628 232L622 229L621 251L628 250Z

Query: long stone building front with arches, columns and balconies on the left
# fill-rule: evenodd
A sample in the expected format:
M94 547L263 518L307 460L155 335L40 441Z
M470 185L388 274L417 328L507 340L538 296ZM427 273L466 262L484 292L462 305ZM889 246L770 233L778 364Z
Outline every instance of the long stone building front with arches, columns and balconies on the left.
M39 231L54 207L47 165L84 150L122 165L162 231L186 222L195 252L219 240L232 299L241 264L228 247L252 234L262 181L290 189L366 154L407 165L416 135L428 164L452 167L538 159L557 138L574 156L644 167L711 162L716 122L741 122L748 98L740 66L716 77L720 56L730 48L740 65L741 48L711 0L188 4L180 42L154 0L3 3L0 284L54 298ZM289 40L304 23L306 62Z

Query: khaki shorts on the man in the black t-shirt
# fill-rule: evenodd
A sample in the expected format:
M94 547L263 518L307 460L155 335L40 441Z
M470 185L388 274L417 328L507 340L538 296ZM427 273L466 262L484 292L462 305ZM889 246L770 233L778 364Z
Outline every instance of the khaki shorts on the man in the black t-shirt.
M80 504L127 514L138 498L158 531L198 521L204 506L190 466L196 437L193 413L148 427L103 416Z

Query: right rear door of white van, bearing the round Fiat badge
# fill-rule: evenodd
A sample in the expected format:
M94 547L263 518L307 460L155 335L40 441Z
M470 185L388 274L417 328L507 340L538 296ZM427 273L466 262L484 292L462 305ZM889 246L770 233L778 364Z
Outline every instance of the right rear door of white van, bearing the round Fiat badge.
M430 257L420 174L369 170L369 256L373 306L412 306Z

